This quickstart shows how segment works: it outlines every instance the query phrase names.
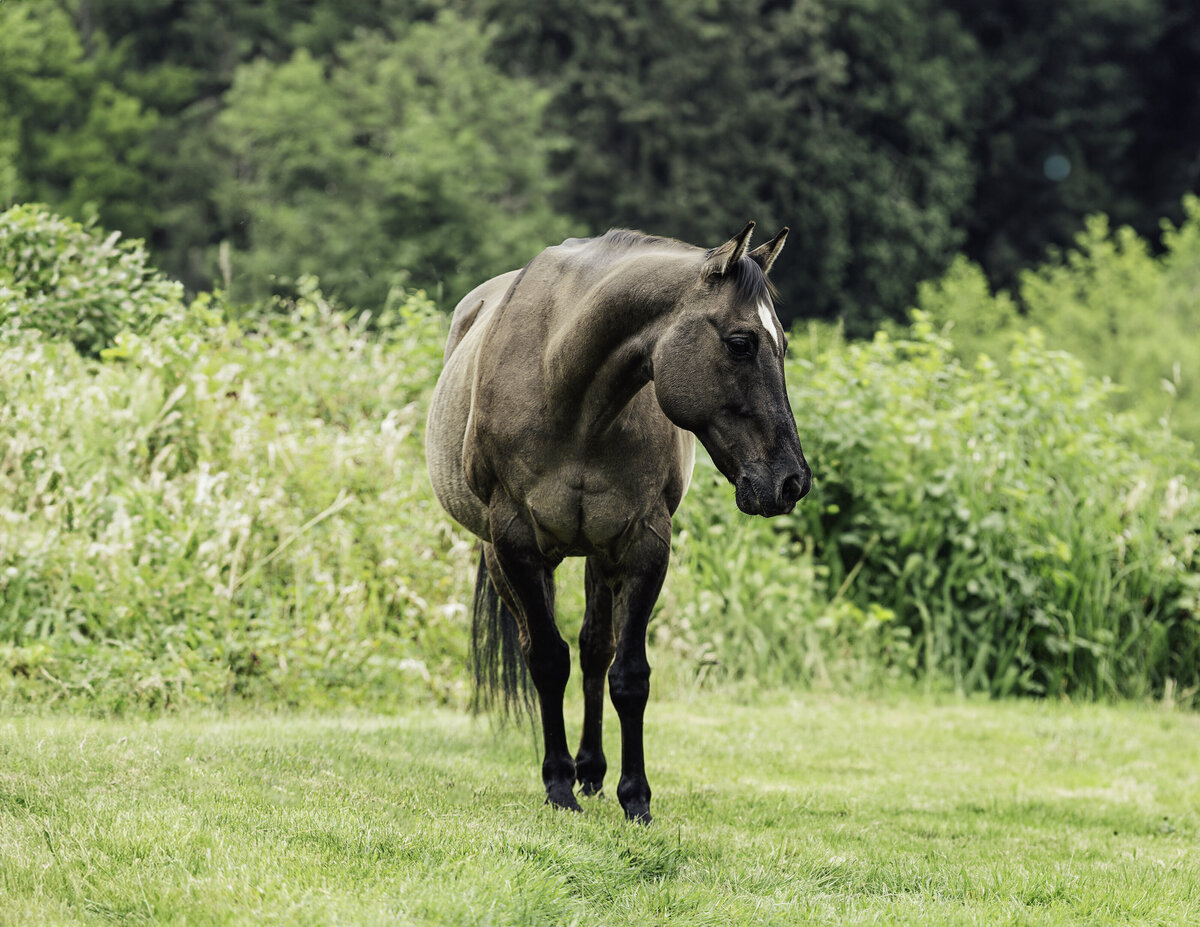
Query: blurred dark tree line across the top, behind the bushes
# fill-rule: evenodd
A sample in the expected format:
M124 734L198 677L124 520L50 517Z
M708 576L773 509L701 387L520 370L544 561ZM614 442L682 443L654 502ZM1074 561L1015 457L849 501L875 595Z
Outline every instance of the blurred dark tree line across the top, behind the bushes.
M790 316L866 330L1200 186L1188 0L10 0L0 203L238 297L460 295L571 233L791 225Z

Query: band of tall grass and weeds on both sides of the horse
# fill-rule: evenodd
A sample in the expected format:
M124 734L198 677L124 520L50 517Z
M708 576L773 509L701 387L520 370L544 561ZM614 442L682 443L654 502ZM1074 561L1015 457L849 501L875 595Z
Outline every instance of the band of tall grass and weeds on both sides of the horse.
M76 268L76 292L104 261ZM463 702L473 540L422 449L444 316L421 294L354 316L314 281L253 310L160 310L84 348L66 310L5 313L0 689L97 710ZM870 343L794 334L812 494L748 519L701 456L656 665L698 684L1198 701L1189 445L1115 414L1110 387L1036 335L967 365L924 318ZM569 638L580 573L559 597Z

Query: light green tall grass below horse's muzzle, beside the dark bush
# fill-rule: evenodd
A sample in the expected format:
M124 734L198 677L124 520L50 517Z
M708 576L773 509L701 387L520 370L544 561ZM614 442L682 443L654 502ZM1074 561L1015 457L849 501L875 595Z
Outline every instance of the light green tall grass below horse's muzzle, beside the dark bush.
M652 640L694 683L876 688L911 677L907 627L836 594L799 514L748 519L701 451L676 518L672 568Z

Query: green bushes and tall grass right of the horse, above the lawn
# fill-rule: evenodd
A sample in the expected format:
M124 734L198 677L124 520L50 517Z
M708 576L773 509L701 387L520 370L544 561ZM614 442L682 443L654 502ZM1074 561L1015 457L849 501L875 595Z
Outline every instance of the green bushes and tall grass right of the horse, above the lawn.
M1189 445L1037 334L1008 333L1003 366L919 313L870 343L806 334L788 383L814 490L746 519L702 456L661 648L702 680L1198 701Z

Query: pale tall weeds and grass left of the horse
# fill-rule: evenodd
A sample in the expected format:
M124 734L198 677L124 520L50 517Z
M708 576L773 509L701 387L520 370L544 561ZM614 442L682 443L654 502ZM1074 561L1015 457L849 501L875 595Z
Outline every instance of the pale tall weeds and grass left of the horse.
M236 323L202 298L100 365L7 330L10 686L108 707L451 692L470 551L420 441L443 319L414 295L371 335L301 288Z

